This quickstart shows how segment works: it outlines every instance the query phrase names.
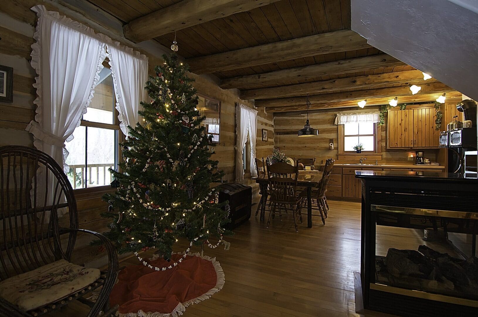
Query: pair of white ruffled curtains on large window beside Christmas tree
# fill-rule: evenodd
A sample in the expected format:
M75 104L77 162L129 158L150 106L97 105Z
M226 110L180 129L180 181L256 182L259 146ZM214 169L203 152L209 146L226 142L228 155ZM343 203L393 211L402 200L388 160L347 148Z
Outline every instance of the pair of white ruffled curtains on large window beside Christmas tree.
M38 15L33 35L36 43L32 45L31 54L31 64L38 75L33 85L38 98L34 101L35 120L28 124L26 131L33 134L35 147L52 156L67 173L65 142L73 139L72 133L93 98L106 47L114 66L114 86L120 104L117 109L123 127L134 126L138 121L148 60L137 52L133 54L131 49L128 52L103 34L95 34L81 23L47 11L43 5L34 6L32 10Z

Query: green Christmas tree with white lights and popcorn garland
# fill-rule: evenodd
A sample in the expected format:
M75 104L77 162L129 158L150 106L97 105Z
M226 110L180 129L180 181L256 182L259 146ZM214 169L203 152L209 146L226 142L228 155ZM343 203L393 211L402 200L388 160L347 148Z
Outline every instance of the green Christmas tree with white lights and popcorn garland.
M185 76L188 66L174 53L163 58L146 83L152 100L141 103L143 124L128 127L124 163L120 172L110 171L119 188L103 197L110 203L103 216L113 219L106 235L120 253L154 248L169 259L179 238L217 246L228 233L222 229L228 208L211 188L223 173L211 160L213 145L201 125L206 117L196 109L194 80Z

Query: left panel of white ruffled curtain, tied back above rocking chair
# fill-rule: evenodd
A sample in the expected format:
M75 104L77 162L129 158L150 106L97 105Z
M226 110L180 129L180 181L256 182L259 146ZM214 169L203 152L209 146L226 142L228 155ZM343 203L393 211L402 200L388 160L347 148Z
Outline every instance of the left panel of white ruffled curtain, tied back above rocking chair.
M88 35L91 29L58 12L46 11L42 5L32 10L38 15L31 62L38 75L33 84L38 97L35 120L26 131L33 134L35 147L53 157L67 173L65 141L72 138L93 98L106 56L105 44Z

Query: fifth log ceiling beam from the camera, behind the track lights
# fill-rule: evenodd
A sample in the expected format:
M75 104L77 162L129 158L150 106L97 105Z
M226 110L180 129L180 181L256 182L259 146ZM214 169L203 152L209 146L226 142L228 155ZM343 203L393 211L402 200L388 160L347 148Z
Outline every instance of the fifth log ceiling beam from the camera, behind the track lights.
M442 83L431 83L431 84L421 84L422 90L417 95L426 95L433 93L448 93L455 91L455 89L446 86ZM379 88L379 89L369 89L369 90L356 90L356 91L345 91L337 92L332 94L324 95L315 95L309 96L309 100L312 104L318 103L329 103L329 102L341 102L341 101L353 101L357 103L360 100L369 98L389 98L399 97L399 102L402 97L411 96L412 92L408 86L402 87L391 87L391 88ZM293 107L293 106L305 106L305 97L292 97L292 98L279 98L279 99L264 99L257 100L254 104L256 107L266 107L275 108L275 107ZM367 101L368 103L368 101Z

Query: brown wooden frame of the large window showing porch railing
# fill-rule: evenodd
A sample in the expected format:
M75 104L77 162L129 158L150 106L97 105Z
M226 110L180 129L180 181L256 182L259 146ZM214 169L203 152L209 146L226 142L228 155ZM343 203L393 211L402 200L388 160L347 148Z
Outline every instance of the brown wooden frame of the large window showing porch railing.
M103 61L103 67L111 69L108 63L108 57ZM93 96L94 98L94 96ZM87 153L88 153L88 127L91 128L101 128L101 129L109 129L109 130L114 130L115 131L115 169L117 171L121 171L120 169L120 163L123 161L122 160L122 150L120 147L120 143L124 142L125 140L125 135L120 129L120 120L118 119L119 112L116 109L116 93L114 92L114 87L113 87L113 123L102 123L102 122L94 122L94 121L89 121L89 120L83 120L83 116L81 117L80 120L80 125L79 126L84 126L86 127L86 138L85 138L85 173L88 177L88 171L87 171ZM87 178L86 177L86 178ZM90 196L94 194L103 194L107 192L108 190L113 190L110 185L103 185L103 186L92 186L92 187L86 187L86 188L76 188L73 189L73 192L75 193L76 196Z

